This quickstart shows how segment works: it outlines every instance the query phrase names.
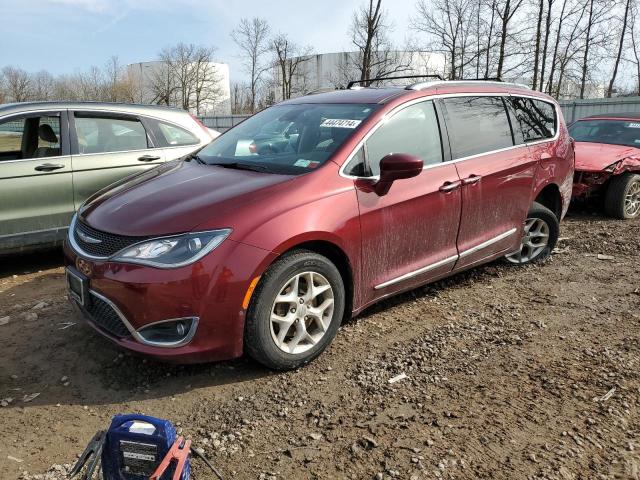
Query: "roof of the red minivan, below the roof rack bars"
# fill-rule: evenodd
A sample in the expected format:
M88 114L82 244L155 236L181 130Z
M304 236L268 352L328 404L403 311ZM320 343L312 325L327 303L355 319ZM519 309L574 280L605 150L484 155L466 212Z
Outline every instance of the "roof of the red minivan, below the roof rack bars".
M408 87L355 87L347 90L333 90L324 93L312 93L303 97L286 100L281 104L305 104L305 103L377 103L385 104L400 97L427 97L442 94L518 94L538 97L544 100L553 98L541 92L529 89L526 86L492 82L492 81L435 81L410 85Z

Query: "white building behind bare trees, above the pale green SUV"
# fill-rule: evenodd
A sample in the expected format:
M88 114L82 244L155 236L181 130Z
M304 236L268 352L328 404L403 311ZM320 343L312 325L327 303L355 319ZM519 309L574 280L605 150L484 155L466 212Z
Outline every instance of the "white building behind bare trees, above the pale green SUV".
M193 114L199 115L230 115L231 114L231 85L229 81L229 65L226 63L210 62L207 65L208 75L212 81L207 81L205 87L201 89L201 100L199 112L196 110L196 94L190 96L192 107L189 109ZM162 61L132 63L127 66L127 72L138 90L139 103L165 103L159 98L159 90L164 82L165 86L171 82L168 77L167 64ZM175 81L174 81L175 83ZM164 89L168 91L168 88ZM182 92L177 89L173 92L170 103L181 106L179 99Z

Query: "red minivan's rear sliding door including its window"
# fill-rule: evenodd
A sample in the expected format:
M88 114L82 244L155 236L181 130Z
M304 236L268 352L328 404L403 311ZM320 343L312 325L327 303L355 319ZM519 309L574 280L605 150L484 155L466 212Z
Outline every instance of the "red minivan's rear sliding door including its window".
M458 269L517 248L537 163L526 145L515 145L502 97L451 97L443 103L462 180Z

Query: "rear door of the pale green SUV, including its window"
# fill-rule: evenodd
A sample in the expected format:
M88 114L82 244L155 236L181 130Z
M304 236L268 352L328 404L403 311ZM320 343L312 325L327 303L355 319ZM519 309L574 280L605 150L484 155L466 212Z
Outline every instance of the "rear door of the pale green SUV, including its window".
M71 118L76 208L101 188L164 162L164 150L134 115L76 111Z

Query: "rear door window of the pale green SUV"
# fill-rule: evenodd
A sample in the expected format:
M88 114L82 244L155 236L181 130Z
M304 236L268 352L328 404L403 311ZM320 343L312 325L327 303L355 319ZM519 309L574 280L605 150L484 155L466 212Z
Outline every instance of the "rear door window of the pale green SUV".
M75 125L80 154L148 148L147 132L139 120L76 114Z

